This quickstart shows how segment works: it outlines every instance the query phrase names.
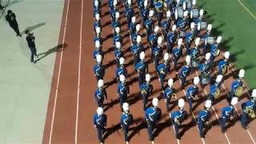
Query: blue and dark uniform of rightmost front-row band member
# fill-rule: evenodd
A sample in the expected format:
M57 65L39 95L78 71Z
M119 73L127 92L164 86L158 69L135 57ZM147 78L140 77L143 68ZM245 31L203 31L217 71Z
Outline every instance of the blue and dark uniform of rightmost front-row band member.
M248 124L249 115L248 110L254 110L254 114L256 112L256 101L254 99L251 99L250 101L243 102L242 103L242 117L241 117L241 124L242 128L246 129L246 126Z

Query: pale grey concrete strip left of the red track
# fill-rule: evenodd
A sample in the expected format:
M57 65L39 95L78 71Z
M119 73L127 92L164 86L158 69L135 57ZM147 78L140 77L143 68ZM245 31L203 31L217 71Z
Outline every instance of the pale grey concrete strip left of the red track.
M64 0L2 0L2 5L8 2L20 30L33 30L42 59L30 62L26 35L16 37L0 10L0 143L41 143Z

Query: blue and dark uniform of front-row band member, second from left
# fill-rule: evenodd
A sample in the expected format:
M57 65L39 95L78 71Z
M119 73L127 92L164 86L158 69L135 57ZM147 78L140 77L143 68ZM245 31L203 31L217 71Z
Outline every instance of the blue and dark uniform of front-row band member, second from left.
M134 117L130 113L123 112L121 119L120 119L120 124L122 126L123 134L125 136L125 141L129 142L128 138L128 130L130 125L134 122Z

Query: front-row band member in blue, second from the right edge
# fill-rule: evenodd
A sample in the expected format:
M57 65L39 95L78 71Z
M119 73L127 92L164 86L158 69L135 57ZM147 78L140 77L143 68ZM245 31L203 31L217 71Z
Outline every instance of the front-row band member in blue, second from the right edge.
M222 126L222 133L226 131L226 121L234 120L234 106L238 104L238 97L232 98L230 106L225 106L222 108L222 118L220 119Z

